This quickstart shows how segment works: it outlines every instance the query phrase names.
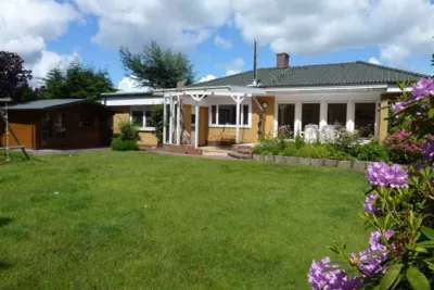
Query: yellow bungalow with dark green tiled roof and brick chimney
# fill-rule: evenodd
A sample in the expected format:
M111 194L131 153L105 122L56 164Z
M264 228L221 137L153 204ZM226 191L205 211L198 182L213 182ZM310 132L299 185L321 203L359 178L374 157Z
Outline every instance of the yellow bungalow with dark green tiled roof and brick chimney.
M135 105L166 104L166 144L253 143L260 135L277 136L282 125L297 134L306 125L322 128L335 123L349 131L362 128L363 136L382 140L387 134L387 110L380 109L399 96L398 81L423 77L429 76L361 61L291 66L290 55L278 53L276 67L154 90L144 98L124 94L137 97ZM181 122L178 103L183 108L187 139L177 126ZM130 106L129 117L135 119L136 115L142 117Z

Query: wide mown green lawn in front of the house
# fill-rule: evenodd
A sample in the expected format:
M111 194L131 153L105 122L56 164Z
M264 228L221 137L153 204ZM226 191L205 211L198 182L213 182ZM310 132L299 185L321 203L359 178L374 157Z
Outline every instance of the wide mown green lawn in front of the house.
M363 174L92 152L0 165L1 289L309 289Z

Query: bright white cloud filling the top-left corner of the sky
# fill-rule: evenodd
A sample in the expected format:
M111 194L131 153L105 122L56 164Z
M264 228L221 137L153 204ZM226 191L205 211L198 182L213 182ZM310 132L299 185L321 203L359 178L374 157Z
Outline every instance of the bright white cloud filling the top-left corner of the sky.
M62 36L79 18L69 3L47 0L0 1L0 50L33 63L42 56L47 39Z

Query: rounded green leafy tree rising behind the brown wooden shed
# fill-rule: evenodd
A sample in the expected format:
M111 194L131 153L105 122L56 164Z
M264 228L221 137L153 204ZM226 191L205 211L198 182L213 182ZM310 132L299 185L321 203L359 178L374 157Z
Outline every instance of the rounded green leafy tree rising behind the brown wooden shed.
M80 62L71 63L66 70L59 65L51 68L43 81L46 99L98 100L103 92L116 91L106 71L95 70Z

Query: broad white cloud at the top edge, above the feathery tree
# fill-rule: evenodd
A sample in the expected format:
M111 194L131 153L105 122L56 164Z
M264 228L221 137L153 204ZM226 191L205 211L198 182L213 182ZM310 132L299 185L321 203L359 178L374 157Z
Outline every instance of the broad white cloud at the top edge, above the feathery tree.
M92 41L104 48L139 50L151 40L174 49L192 48L209 38L231 13L230 0L74 0L99 17Z

